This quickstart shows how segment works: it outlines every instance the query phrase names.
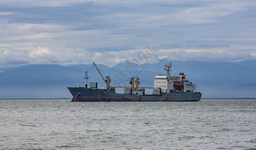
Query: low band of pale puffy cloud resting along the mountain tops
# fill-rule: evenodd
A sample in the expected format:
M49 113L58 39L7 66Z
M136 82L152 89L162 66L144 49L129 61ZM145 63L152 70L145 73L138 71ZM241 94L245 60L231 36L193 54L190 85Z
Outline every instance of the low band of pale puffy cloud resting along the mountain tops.
M121 50L121 51L102 51L90 52L83 48L67 47L20 47L15 49L0 50L0 67L16 67L27 64L88 64L93 61L106 64L108 66L116 65L125 60L138 60L144 63L139 54L144 49ZM153 49L152 49L153 50ZM212 52L213 51L213 52ZM145 52L145 51L144 51ZM193 49L160 49L153 50L156 57L149 57L149 63L157 63L159 58L168 58L169 60L197 60L197 61L238 61L245 59L255 59L256 52L249 49L232 51L214 51L205 49L196 51Z

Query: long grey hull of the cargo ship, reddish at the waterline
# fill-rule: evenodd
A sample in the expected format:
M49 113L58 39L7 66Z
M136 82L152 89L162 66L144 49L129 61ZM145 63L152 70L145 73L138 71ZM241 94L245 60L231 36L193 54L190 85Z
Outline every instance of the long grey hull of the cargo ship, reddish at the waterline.
M68 87L71 101L199 101L200 92L171 92L162 95L132 95L116 93L114 90Z

